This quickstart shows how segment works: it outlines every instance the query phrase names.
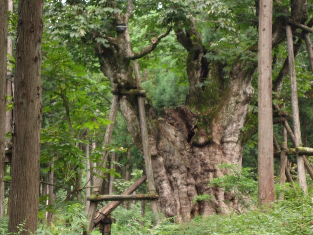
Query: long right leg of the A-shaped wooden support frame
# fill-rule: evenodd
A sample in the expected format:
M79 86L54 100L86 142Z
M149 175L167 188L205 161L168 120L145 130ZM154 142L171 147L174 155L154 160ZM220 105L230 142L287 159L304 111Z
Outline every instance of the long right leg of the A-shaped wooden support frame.
M134 71L135 71L137 89L141 89L141 79L140 79L139 66L138 66L137 61L134 61ZM138 96L138 106L139 106L142 149L143 149L143 156L145 159L147 179L148 179L148 190L149 190L149 193L156 193L155 179L153 176L153 168L152 168L151 156L150 156L150 151L149 151L149 141L148 141L149 137L148 137L148 130L147 130L147 120L146 120L144 98L141 96ZM154 214L154 223L158 223L159 218L158 218L158 209L157 209L156 201L151 202L151 209Z

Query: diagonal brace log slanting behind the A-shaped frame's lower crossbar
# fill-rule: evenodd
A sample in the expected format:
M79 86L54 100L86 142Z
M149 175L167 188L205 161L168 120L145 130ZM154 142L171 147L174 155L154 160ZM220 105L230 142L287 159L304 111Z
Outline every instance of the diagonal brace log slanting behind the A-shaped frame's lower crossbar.
M134 190L136 190L137 188L139 188L140 185L142 185L145 181L147 180L147 176L143 175L139 180L137 180L131 187L127 188L122 195L129 195L132 192L134 192ZM100 222L101 220L108 216L112 211L114 211L114 209L120 205L123 201L115 201L115 202L110 202L108 205L106 205L105 207L103 207L99 212L97 212L95 219L93 221L93 228L95 228ZM90 230L91 231L91 230Z

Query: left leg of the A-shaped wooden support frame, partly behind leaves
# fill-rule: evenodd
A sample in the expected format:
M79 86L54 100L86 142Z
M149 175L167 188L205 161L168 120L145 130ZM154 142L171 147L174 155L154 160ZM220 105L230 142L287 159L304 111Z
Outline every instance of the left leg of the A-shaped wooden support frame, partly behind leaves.
M114 122L115 122L115 118L116 118L116 114L117 114L117 110L118 110L119 100L120 100L119 95L115 94L113 96L112 107L111 107L111 111L110 111L110 115L109 115L109 120L111 120L112 123L107 126L106 134L104 136L104 141L103 141L104 146L111 143L112 133L113 133L113 128L114 128ZM107 162L108 162L108 152L105 151L102 154L100 163L101 163L101 165L106 165ZM97 167L99 167L101 165L97 165ZM96 176L96 175L98 175L98 176ZM102 178L103 171L97 169L96 175L94 176L93 182L94 182L94 186L97 188L93 188L92 194L100 194L101 186L103 183L103 178ZM88 211L88 220L89 220L88 221L89 222L88 231L92 230L93 219L94 219L95 212L97 210L97 205L98 205L97 201L90 202L89 211Z

